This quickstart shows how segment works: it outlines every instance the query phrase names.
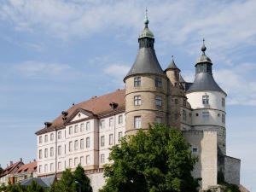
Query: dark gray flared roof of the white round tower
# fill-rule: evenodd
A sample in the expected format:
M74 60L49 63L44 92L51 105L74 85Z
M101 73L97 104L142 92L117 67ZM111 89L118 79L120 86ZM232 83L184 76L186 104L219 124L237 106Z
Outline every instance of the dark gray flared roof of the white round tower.
M198 90L215 90L226 93L222 90L212 77L211 73L197 73L195 75L194 83L189 87L187 92L193 92Z

